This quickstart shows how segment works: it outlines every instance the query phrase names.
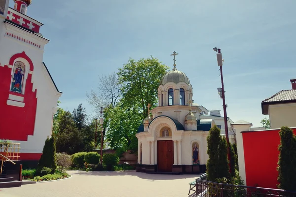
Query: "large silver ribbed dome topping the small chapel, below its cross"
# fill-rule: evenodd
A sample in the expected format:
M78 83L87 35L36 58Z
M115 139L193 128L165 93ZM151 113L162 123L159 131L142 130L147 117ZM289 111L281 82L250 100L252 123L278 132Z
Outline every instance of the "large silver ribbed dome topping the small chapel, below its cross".
M160 84L164 85L168 82L174 82L175 84L177 84L179 82L185 82L188 85L190 84L190 80L187 77L187 75L185 75L185 73L177 70L175 67L173 70L165 73L165 75L162 77L162 79L160 81Z

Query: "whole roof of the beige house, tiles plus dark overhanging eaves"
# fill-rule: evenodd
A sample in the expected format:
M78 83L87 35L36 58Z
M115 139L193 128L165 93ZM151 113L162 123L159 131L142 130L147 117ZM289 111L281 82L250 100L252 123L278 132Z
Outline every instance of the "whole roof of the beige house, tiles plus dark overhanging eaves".
M261 102L262 114L268 114L269 104L283 104L296 102L296 89L293 90L281 90L280 92L272 95L271 97Z

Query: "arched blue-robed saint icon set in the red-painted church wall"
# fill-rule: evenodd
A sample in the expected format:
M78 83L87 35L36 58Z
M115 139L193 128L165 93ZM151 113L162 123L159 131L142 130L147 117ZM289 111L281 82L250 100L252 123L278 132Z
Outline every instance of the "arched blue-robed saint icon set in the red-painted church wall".
M24 84L25 65L22 62L16 62L13 67L11 91L22 93Z

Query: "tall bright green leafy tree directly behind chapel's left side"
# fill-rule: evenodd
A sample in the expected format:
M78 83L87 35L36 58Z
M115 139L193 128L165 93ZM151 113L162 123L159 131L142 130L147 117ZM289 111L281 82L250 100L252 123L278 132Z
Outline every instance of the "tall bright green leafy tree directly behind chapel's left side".
M118 72L119 83L122 84L121 102L138 108L142 118L146 118L148 103L152 106L157 105L158 86L167 70L168 66L152 56L138 61L130 58Z

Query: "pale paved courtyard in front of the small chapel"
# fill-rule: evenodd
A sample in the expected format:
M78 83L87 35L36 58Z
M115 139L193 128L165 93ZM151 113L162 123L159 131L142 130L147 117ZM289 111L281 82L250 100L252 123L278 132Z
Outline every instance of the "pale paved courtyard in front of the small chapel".
M0 189L0 197L188 197L196 175L68 171L71 178Z

